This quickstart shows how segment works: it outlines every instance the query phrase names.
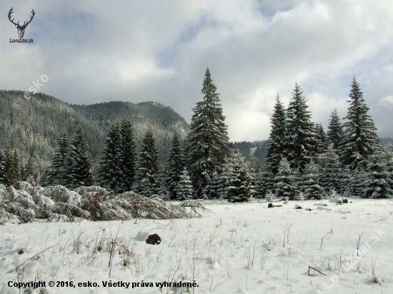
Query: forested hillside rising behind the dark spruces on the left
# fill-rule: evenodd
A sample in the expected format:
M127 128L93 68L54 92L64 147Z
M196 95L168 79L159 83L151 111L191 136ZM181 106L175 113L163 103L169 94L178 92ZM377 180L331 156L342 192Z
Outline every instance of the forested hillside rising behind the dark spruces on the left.
M26 100L23 93L0 91L0 146L18 149L24 163L29 156L36 158L39 170L49 165L63 128L70 139L77 125L84 128L93 163L99 161L106 133L117 119L131 119L138 146L146 129L151 127L161 160L166 158L173 134L177 132L185 138L189 132L184 118L161 103L112 101L72 105L44 93L36 93ZM21 108L13 106L17 98L23 101Z

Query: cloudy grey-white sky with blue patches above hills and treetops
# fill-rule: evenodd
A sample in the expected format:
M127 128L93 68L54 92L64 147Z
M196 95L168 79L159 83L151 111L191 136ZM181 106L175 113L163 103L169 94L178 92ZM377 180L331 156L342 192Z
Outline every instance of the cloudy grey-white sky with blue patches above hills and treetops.
M36 15L10 44L16 21ZM0 88L69 103L158 101L190 122L209 66L231 141L269 136L297 81L313 120L347 112L362 86L379 136L393 137L392 0L9 1L0 3Z

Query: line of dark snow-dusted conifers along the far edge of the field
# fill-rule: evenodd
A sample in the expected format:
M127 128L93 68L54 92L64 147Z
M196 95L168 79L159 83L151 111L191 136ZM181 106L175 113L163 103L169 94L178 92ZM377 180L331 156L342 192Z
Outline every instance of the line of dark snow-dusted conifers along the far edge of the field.
M109 128L99 166L93 171L84 130L78 126L71 143L66 131L61 133L41 185L76 188L96 184L115 193L159 194L170 200L301 200L336 193L390 197L392 145L382 148L355 78L351 87L346 122L341 123L334 110L327 133L321 124L312 122L312 113L297 83L287 108L277 96L266 156L260 165L259 161L244 158L236 143L228 143L219 93L207 68L202 85L204 98L193 108L191 131L184 140L174 134L164 163L159 161L151 128L136 148L134 127L123 118ZM16 151L4 154L0 150L0 181L6 185L28 178L29 171L24 175L17 172L17 157Z

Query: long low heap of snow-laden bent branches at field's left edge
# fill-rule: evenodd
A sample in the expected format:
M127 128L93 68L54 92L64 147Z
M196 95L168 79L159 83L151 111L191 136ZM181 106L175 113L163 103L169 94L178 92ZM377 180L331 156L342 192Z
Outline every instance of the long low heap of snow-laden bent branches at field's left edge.
M186 207L191 208L187 211ZM0 185L0 224L80 222L81 220L129 220L132 218L199 218L209 212L197 201L180 205L166 203L160 196L146 198L134 192L113 194L99 186L34 187L18 182Z

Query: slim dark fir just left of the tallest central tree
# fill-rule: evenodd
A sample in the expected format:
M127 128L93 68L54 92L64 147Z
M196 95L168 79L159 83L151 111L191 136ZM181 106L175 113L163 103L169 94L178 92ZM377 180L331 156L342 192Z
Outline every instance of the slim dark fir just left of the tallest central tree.
M180 137L176 133L172 138L171 148L166 163L166 176L164 186L166 187L167 197L171 200L177 198L178 183L184 173L184 155L180 146ZM188 176L188 172L187 172Z

